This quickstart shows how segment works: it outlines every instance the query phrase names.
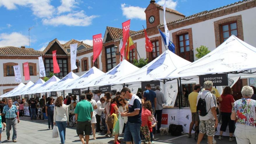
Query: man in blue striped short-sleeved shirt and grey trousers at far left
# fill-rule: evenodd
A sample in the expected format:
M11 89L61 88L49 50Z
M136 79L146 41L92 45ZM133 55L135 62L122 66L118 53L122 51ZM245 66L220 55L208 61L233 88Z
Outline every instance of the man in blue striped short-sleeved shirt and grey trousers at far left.
M1 115L5 115L6 118L6 135L7 135L7 140L10 140L10 130L11 127L13 126L13 142L16 143L16 138L17 138L17 122L19 123L19 115L18 115L18 110L15 105L13 105L13 100L12 99L7 99L7 104L6 106L3 107L3 113ZM16 119L16 117L18 119Z

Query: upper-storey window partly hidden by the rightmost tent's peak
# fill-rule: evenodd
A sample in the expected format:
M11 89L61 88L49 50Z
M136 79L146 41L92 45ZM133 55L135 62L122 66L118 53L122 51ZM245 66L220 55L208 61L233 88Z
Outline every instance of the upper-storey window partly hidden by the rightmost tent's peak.
M237 36L237 22L223 24L221 26L222 42L227 40L231 35Z

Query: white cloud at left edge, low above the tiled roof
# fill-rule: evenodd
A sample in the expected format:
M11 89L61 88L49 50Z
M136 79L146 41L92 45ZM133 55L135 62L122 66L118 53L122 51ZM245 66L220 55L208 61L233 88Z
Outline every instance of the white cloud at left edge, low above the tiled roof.
M6 47L6 46L20 47L20 46L28 46L28 45L29 45L28 36L22 35L21 33L17 33L17 32L0 33L0 47Z

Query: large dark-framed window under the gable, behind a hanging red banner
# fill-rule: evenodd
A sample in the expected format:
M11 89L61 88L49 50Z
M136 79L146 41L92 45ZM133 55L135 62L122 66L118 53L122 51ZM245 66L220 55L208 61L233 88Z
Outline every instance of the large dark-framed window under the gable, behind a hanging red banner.
M58 78L63 78L67 75L67 59L57 59L58 65L60 67L60 72L54 74ZM49 77L50 72L53 72L53 61L52 58L45 58L45 72L46 76Z

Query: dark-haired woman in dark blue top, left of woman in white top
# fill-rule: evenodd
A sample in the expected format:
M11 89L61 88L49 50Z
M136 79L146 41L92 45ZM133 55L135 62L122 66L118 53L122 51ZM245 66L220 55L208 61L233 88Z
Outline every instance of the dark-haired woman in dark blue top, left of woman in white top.
M52 97L48 98L47 105L45 106L46 116L48 117L48 128L53 128L53 115L54 115L54 99Z

